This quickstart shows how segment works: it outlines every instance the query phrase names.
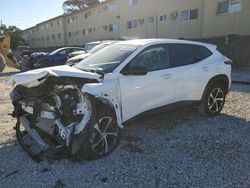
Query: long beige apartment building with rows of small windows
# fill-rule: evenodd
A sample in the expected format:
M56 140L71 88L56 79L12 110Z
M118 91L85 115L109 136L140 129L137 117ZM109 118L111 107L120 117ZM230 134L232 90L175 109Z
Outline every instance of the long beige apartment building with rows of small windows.
M33 48L137 38L250 35L249 0L106 0L24 30Z

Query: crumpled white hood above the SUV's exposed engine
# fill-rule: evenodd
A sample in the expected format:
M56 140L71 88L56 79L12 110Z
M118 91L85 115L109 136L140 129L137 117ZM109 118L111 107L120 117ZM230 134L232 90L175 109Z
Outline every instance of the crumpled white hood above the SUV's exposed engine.
M38 79L44 78L46 76L87 78L87 79L95 79L98 81L101 80L101 76L99 74L85 72L75 67L63 65L63 66L36 69L15 74L11 77L11 83L15 86L29 85L29 83L38 82Z

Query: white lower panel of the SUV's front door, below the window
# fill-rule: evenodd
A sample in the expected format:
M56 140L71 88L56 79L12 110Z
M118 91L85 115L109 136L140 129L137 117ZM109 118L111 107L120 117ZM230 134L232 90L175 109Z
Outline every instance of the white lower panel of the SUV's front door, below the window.
M124 121L174 101L176 77L171 69L149 72L144 76L120 74L119 81Z

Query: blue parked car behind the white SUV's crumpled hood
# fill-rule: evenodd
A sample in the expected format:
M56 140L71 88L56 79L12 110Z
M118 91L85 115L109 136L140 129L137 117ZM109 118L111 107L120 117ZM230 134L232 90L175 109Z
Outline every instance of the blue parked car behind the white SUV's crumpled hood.
M56 65L64 65L68 59L68 54L76 51L83 50L79 47L65 47L59 48L52 53L42 56L34 63L34 68L50 67Z

